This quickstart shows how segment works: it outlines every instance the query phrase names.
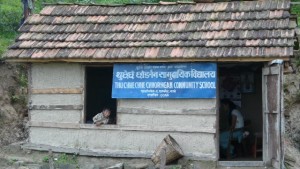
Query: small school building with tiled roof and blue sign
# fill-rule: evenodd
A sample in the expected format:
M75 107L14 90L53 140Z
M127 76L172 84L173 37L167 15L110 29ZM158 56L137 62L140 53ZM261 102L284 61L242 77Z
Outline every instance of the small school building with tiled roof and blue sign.
M47 5L5 54L30 65L25 147L150 158L170 134L191 159L281 168L289 10L273 0ZM223 98L243 113L246 158L220 156ZM110 122L97 127L104 107Z

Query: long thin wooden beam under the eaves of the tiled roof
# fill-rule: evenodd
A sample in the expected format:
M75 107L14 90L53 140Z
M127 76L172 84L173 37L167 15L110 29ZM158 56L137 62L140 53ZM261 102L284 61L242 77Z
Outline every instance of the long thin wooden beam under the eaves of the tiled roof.
M144 63L144 62L268 62L274 59L289 61L290 57L241 57L241 58L172 58L172 59L7 59L8 62L80 62L80 63Z

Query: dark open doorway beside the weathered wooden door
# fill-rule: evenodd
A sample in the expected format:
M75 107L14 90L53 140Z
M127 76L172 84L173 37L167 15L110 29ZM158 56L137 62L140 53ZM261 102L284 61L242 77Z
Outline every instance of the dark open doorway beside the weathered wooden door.
M227 63L219 69L221 161L262 161L262 64ZM235 106L226 109L221 100ZM240 114L239 114L239 113ZM241 116L241 117L239 117ZM233 119L236 118L236 119ZM243 119L242 125L234 120ZM232 128L232 126L235 128ZM239 125L237 127L237 125ZM242 126L242 127L241 127Z

